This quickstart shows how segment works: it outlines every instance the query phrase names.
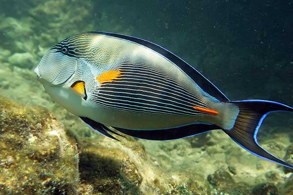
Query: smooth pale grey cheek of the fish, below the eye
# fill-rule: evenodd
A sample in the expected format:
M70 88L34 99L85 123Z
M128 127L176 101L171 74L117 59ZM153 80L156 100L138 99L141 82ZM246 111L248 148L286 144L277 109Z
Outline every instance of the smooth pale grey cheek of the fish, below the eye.
M64 85L74 77L78 59L69 57L54 49L47 52L41 59L38 69L40 76L53 85Z

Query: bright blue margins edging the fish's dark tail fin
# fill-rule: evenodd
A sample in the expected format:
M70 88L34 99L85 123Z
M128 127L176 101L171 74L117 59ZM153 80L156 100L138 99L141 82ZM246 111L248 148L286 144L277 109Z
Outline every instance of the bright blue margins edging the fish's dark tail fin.
M268 100L259 100L259 99L255 99L255 100L242 100L242 101L231 101L233 103L237 103L237 102L241 102L241 103L245 103L245 102L259 102L259 103L270 103L270 104L276 104L276 105L279 105L279 106L282 106L284 108L287 108L288 110L272 110L272 111L269 111L269 112L266 112L265 114L263 114L263 116L259 119L258 121L258 124L254 130L254 133L253 133L253 139L255 141L255 144L260 147L261 149L263 149L259 144L258 144L258 141L257 141L257 133L258 133L258 130L263 122L263 120L265 119L265 117L267 117L270 113L272 112L279 112L279 111L285 111L285 112L293 112L293 108L290 107L290 106L287 106L285 104L282 104L282 103L278 103L278 102L274 102L274 101L268 101ZM226 132L226 131L225 131ZM226 132L227 133L227 132ZM229 135L229 134L228 134ZM230 136L230 135L229 135ZM231 136L230 136L231 137ZM269 153L271 156L273 156L274 158L280 160L281 162L277 162L277 161L274 161L272 159L269 159L269 158L266 158L264 156L260 156L254 152L252 152L251 150L249 150L248 148L244 147L243 145L241 145L237 140L235 140L233 137L231 137L232 140L234 140L238 145L240 145L243 149L245 149L246 151L250 152L251 154L255 155L255 156L258 156L258 157L261 157L263 159L266 159L266 160L269 160L271 162L274 162L274 163L277 163L277 164L280 164L282 166L285 166L285 167L288 167L288 168L291 168L293 169L293 165L292 164L289 164L285 161L283 161L282 159L279 159L278 157L276 156L273 156L271 153ZM264 149L263 149L264 150ZM264 150L266 151L266 150ZM266 151L267 152L267 151Z

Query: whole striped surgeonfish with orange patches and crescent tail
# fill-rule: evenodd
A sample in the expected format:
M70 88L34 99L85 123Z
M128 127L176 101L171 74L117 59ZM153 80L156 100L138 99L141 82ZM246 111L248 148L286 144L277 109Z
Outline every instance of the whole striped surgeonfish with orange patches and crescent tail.
M230 101L186 61L145 39L73 35L52 47L34 72L53 100L106 137L173 140L220 129L253 155L293 169L257 141L269 113L292 107Z

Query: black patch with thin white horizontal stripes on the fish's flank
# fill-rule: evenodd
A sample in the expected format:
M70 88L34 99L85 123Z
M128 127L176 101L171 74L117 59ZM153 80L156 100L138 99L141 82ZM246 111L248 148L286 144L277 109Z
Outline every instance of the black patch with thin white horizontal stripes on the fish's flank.
M200 97L146 65L124 63L121 77L103 82L90 101L104 108L137 113L203 116L192 106L208 107Z

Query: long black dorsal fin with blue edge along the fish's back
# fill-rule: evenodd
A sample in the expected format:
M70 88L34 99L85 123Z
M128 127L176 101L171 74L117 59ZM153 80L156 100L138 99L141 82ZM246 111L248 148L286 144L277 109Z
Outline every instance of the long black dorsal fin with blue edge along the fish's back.
M202 90L204 90L210 96L217 98L220 101L229 101L229 99L214 84L212 84L209 81L209 79L205 78L199 71L197 71L195 68L193 68L183 59L179 58L175 54L169 52L167 49L155 43L152 43L144 39L139 39L136 37L121 35L116 33L99 32L99 31L87 32L87 33L94 33L94 34L100 34L100 35L105 35L110 37L116 37L116 38L129 40L137 44L146 46L152 49L153 51L161 54L165 58L169 59L174 64L176 64L176 66L178 66L183 72L185 72Z

